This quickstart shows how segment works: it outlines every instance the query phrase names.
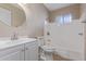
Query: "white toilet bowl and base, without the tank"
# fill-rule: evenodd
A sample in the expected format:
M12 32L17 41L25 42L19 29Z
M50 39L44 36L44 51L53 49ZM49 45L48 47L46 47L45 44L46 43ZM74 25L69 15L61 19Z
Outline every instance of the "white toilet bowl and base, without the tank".
M40 57L44 59L45 61L52 61L53 60L52 54L54 52L54 48L51 46L42 46L40 48L42 50Z

